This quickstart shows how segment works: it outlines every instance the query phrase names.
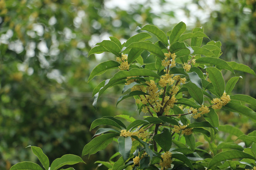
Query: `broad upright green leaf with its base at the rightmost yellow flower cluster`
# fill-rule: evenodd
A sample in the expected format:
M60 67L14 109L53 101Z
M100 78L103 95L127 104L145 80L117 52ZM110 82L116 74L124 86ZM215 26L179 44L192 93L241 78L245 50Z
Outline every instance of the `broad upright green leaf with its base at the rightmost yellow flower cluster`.
M221 72L213 67L206 68L206 71L209 73L210 81L219 94L219 97L222 96L225 91L225 82Z

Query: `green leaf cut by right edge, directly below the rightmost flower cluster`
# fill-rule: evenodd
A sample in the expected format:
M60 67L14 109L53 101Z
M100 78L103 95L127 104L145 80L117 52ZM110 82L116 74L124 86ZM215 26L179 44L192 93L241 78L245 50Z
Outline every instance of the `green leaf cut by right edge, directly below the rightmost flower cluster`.
M239 105L237 103L229 102L228 104L226 104L223 107L230 111L241 113L241 114L253 119L254 121L256 120L256 112L251 110L250 108L247 108L244 105Z

